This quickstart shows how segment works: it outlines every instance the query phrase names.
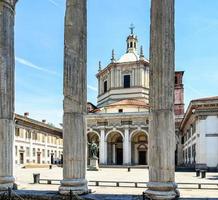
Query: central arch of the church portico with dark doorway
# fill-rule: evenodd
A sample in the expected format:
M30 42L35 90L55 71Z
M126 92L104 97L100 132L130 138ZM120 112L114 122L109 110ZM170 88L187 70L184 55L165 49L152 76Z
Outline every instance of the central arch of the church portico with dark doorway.
M123 135L118 131L110 132L107 137L107 164L123 164Z

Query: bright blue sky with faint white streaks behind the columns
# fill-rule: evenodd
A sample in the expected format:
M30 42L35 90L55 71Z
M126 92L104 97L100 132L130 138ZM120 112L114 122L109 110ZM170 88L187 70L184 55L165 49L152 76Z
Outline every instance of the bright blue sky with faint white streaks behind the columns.
M176 1L176 69L184 70L185 103L218 95L218 1ZM88 1L88 100L96 103L98 61L125 53L131 23L149 53L150 0ZM62 121L65 0L20 0L16 10L16 112Z

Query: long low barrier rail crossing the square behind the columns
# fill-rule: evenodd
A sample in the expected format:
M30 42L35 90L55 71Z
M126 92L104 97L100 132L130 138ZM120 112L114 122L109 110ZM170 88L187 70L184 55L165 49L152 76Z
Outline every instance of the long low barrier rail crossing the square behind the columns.
M40 184L60 184L61 180L57 179L39 179ZM89 186L96 187L128 187L128 188L147 188L148 182L131 182L131 181L95 181L90 180ZM218 183L177 183L179 189L208 189L218 190ZM205 187L207 186L207 187Z

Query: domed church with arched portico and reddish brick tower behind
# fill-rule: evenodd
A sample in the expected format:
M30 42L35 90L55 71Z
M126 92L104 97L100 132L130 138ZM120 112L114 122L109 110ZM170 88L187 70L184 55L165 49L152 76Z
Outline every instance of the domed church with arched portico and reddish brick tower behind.
M97 106L88 105L88 142L99 145L102 165L148 165L149 61L138 53L131 29L126 53L99 70ZM184 115L183 72L175 72L176 160L182 159L179 124ZM89 153L89 151L88 151ZM88 156L89 157L89 156Z

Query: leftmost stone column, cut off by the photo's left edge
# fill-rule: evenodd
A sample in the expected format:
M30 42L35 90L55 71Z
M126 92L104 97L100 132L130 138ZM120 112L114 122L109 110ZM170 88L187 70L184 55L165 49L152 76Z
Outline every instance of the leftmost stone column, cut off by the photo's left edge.
M14 14L16 0L0 0L0 190L13 187Z

